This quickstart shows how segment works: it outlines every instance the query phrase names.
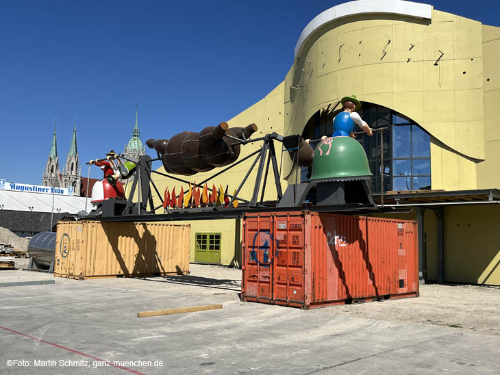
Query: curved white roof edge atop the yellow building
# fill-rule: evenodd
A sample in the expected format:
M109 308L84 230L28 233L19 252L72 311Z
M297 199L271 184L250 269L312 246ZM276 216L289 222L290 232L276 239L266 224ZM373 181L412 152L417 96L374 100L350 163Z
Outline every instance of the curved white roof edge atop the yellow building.
M305 42L314 34L320 27L332 23L340 18L353 16L355 14L400 14L415 18L431 19L432 5L413 3L412 1L402 0L356 0L349 1L329 8L318 14L310 23L302 30L299 41L295 45L294 58L299 57L302 52Z

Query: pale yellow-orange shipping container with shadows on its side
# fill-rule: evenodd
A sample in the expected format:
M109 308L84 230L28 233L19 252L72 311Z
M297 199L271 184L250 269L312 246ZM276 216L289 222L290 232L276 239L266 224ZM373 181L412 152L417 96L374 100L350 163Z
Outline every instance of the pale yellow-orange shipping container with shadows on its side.
M58 222L54 276L88 279L186 273L189 237L187 224Z

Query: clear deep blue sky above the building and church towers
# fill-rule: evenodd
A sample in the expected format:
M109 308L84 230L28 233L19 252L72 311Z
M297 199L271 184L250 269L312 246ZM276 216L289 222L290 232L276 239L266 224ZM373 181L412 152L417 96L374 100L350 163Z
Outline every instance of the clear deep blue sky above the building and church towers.
M303 27L343 2L2 1L0 178L41 183L55 118L61 168L77 118L84 177L89 159L123 152L137 102L143 142L229 120L284 79ZM421 2L500 26L500 1Z

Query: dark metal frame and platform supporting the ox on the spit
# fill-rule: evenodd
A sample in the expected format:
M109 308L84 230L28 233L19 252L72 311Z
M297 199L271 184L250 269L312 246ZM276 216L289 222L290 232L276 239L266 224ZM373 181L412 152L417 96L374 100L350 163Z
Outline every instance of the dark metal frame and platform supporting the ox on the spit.
M302 203L293 201L293 205L290 207L277 207L277 204L284 196L281 185L280 169L278 167L275 142L283 142L283 136L277 133L266 134L263 137L255 138L251 140L233 137L232 135L227 135L232 138L234 144L249 144L253 142L262 142L262 146L243 157L242 159L234 162L233 164L223 168L222 170L212 174L212 176L204 179L200 183L192 183L186 179L182 179L178 176L173 176L172 174L158 172L152 168L153 161L161 160L160 154L156 158L152 159L149 155L142 155L139 159L134 159L127 155L120 154L118 157L122 159L132 161L138 166L136 172L133 175L132 188L130 188L128 198L126 201L123 199L111 198L107 201L103 201L102 207L99 211L94 212L86 216L86 219L90 220L106 220L106 221L166 221L166 220L205 220L205 219L222 219L222 218L242 218L243 214L248 211L287 211L290 209L312 209L314 211L336 211L343 212L346 214L368 214L380 211L373 204L338 204L338 203L327 203L321 206L312 206L310 203ZM286 150L288 151L288 150ZM229 205L227 208L221 206L209 206L209 207L196 207L196 208L181 208L169 209L164 211L163 214L156 214L156 211L160 209L164 203L163 195L160 194L158 187L151 178L151 174L158 174L162 177L168 179L173 179L181 183L192 184L194 188L203 188L203 185L208 181L211 181L215 177L227 172L228 170L238 166L244 161L254 157L251 167L245 174L240 185L236 189L234 195L225 194L230 198ZM238 194L241 189L247 183L250 174L255 170L257 166L257 172L255 176L255 181L253 182L253 193L250 200L240 198ZM264 201L264 195L266 192L266 184L269 175L269 169L273 170L273 178L276 189L276 199L274 201ZM261 186L262 185L262 186ZM153 196L151 194L151 187L158 194L161 204L154 206ZM212 188L208 188L212 192ZM183 194L188 192L188 190L183 191ZM295 197L295 194L294 194ZM138 198L138 202L134 202L134 198ZM176 196L175 198L178 198ZM234 201L237 200L238 207L233 207ZM392 211L393 209L389 209Z

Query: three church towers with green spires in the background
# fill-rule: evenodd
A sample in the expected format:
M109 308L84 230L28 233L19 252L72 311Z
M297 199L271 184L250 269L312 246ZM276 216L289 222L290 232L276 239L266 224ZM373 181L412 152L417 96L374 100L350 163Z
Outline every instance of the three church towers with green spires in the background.
M139 127L138 127L138 110L136 105L136 123L132 129L132 138L125 144L123 153L132 157L140 157L145 154L145 146L140 141ZM54 133L52 136L52 145L47 158L47 163L43 170L42 185L55 186L57 188L73 188L73 195L80 196L82 192L82 168L79 166L78 149L77 149L77 121L73 126L73 137L69 146L68 155L66 157L66 164L60 172L59 156L58 156L58 142L56 134L57 124L54 125ZM108 150L103 150L103 154Z

